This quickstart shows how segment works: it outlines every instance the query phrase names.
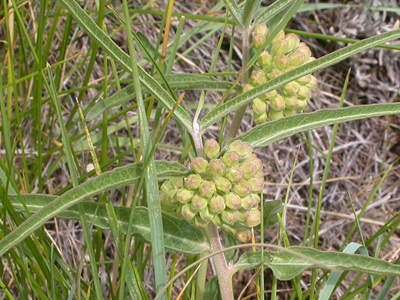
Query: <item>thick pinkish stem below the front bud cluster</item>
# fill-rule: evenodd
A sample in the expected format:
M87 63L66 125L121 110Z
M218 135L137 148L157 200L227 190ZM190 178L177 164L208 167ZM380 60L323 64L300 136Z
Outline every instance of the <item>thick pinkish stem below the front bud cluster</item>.
M211 246L211 253L222 250L223 247L219 238L217 226L209 224L204 231ZM224 300L234 300L232 286L233 266L227 265L223 252L214 255L213 261L215 269L217 270L221 298Z

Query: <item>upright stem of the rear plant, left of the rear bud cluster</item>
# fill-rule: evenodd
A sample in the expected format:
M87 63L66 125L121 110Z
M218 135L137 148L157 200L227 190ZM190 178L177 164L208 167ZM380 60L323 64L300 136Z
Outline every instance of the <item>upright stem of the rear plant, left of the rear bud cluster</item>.
M246 28L243 33L242 55L242 70L245 70L250 57L250 28ZM246 74L243 74L242 76L242 86L245 86L248 81L249 76L246 72ZM242 123L244 113L246 112L246 108L247 105L243 105L236 110L231 127L229 128L227 141L230 141L231 139L236 137L237 132L239 131L240 124Z

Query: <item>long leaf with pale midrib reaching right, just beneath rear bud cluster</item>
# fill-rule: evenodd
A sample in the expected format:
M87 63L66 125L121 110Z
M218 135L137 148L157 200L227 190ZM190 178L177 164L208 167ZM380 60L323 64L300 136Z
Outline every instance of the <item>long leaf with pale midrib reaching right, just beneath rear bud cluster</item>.
M337 123L395 114L400 114L400 103L323 109L308 114L285 117L256 126L236 139L248 142L253 148L261 148L302 131Z

